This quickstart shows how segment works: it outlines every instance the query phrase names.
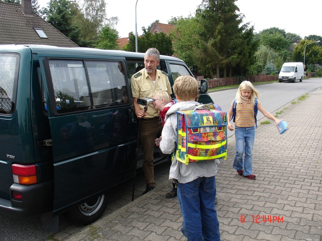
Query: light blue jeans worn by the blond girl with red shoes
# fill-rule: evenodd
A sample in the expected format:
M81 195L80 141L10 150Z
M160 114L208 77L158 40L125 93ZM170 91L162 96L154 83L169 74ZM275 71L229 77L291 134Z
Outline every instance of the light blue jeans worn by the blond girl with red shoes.
M244 169L243 175L252 174L252 148L255 142L255 126L237 127L235 126L236 155L233 167L236 170ZM245 153L244 164L243 154Z

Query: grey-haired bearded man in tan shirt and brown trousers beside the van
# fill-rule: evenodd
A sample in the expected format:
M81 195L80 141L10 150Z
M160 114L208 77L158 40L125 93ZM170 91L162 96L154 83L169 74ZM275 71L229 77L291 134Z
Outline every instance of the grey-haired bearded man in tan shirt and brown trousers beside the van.
M149 105L147 112L137 103L137 98L153 98L157 90L164 90L169 95L172 93L168 74L157 70L160 63L160 53L156 48L149 48L144 56L144 69L131 77L131 89L135 108L135 115L141 119L140 137L143 151L143 171L145 175L146 190L142 195L154 189L153 152L155 139L162 131L158 111Z

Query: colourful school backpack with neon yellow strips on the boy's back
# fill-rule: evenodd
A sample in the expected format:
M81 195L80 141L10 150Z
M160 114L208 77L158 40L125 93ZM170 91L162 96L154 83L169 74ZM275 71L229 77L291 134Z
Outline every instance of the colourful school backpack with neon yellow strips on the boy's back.
M191 111L177 111L177 130L175 155L180 162L188 165L227 158L226 112L211 110L208 105L199 105Z

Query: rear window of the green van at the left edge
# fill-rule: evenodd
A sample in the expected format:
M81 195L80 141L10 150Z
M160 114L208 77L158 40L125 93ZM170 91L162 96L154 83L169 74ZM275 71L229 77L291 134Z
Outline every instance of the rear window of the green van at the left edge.
M0 53L0 113L12 114L18 82L19 55Z

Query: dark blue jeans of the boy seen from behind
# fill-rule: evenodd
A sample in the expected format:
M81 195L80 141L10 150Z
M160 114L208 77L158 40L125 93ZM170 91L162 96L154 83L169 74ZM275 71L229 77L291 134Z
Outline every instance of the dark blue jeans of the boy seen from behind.
M199 177L177 184L177 195L183 218L181 231L188 241L220 241L215 208L216 179Z

